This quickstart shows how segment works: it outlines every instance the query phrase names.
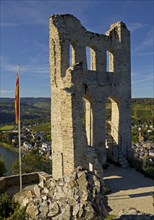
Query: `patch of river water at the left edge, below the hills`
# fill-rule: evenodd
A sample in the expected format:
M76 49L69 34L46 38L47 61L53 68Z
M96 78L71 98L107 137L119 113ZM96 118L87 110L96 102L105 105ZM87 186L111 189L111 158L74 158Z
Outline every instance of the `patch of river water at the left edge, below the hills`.
M11 175L11 164L18 158L18 154L0 146L0 159L4 161L7 172L5 175Z

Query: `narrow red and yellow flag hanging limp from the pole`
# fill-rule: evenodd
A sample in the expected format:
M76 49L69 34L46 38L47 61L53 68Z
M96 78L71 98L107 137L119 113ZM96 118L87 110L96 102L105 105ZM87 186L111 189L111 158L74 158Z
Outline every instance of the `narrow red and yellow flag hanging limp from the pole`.
M16 124L19 121L19 75L16 77L16 91L15 91L15 120Z

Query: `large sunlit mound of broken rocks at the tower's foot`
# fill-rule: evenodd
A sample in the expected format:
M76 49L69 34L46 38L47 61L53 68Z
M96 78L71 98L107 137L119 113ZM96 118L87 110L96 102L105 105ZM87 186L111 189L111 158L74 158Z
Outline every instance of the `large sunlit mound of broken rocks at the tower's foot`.
M16 201L21 198L16 195ZM93 173L78 167L70 176L49 178L34 185L22 199L29 219L104 219L103 186ZM21 201L20 201L21 202Z

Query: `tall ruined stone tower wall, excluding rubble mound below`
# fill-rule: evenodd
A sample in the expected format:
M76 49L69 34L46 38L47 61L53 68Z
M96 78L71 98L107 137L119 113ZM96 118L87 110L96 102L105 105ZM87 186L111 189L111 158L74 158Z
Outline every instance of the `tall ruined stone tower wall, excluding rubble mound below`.
M106 162L107 100L112 106L110 135L129 157L131 75L126 25L112 24L104 35L87 31L72 15L53 15L49 41L53 177L68 175L77 166L88 168L88 145L95 148L101 164Z

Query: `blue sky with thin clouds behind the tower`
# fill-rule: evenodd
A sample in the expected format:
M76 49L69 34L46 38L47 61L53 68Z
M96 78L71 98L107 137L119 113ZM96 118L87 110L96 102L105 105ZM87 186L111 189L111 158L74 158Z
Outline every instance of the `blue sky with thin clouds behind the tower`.
M14 97L17 64L21 96L50 97L49 17L73 14L87 30L105 33L123 21L131 31L132 97L153 97L154 1L0 0L0 96Z

